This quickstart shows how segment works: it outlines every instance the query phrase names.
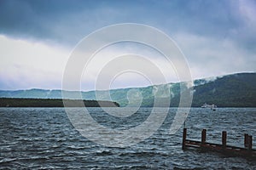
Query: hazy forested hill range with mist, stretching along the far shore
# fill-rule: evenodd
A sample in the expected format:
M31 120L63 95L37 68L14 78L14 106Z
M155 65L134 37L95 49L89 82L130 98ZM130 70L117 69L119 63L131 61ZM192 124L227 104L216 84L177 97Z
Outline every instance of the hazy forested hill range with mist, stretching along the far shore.
M237 73L224 77L211 77L194 81L192 106L199 107L204 103L215 104L218 107L256 107L256 73ZM111 99L120 106L137 105L136 99L141 95L143 107L154 105L154 88L165 86L170 88L171 105L178 106L180 91L183 83L168 83L144 88L121 88L110 90ZM131 93L132 92L132 93ZM79 92L65 92L69 99L78 99ZM108 91L97 91L101 100L109 100ZM130 95L130 96L129 96ZM164 95L164 94L163 94ZM81 92L82 99L96 100L96 92ZM35 98L61 99L61 90L29 89L29 90L0 90L1 98ZM163 96L164 98L165 96ZM135 103L133 104L132 101Z

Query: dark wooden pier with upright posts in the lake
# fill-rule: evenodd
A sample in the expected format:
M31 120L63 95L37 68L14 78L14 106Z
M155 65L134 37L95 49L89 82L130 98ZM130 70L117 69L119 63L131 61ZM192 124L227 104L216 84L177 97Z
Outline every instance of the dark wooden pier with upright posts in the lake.
M187 128L183 128L183 150L193 147L203 151L217 151L228 156L246 156L256 158L256 150L253 149L253 136L244 135L244 148L227 144L227 132L222 132L222 144L207 142L207 130L201 131L201 141L187 139Z

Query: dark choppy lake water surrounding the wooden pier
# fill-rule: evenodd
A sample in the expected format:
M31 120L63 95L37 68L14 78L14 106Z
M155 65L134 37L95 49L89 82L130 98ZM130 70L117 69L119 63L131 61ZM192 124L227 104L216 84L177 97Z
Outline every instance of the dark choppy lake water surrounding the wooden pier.
M84 138L64 108L0 108L0 169L256 169L255 161L242 157L183 151L182 129L169 134L176 110L170 109L150 138L130 147L112 148ZM101 108L89 111L102 126L123 129L143 122L151 108L122 119ZM201 129L207 128L207 141L220 144L225 130L228 144L242 147L244 133L256 137L255 122L256 108L192 108L186 127L188 139L200 140Z

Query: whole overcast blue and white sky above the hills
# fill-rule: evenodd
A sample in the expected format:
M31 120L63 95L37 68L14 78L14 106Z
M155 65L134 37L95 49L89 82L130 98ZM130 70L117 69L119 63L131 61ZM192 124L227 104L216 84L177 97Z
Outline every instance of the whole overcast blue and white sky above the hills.
M171 37L186 57L194 79L255 71L256 1L105 0L0 1L0 89L61 88L67 59L91 32L120 23L153 26ZM125 43L104 49L91 65L82 90L94 89L100 62L109 56L141 54L165 68L160 54ZM99 63L97 65L97 63ZM97 68L99 69L99 68ZM166 66L167 82L176 82ZM149 85L132 72L111 88Z

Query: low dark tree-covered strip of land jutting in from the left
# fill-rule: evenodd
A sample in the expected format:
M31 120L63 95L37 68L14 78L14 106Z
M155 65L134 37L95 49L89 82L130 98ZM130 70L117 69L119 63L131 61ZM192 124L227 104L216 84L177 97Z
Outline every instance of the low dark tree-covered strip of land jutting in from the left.
M63 99L65 107L119 107L117 102L103 100ZM0 107L64 107L62 99L0 98Z

